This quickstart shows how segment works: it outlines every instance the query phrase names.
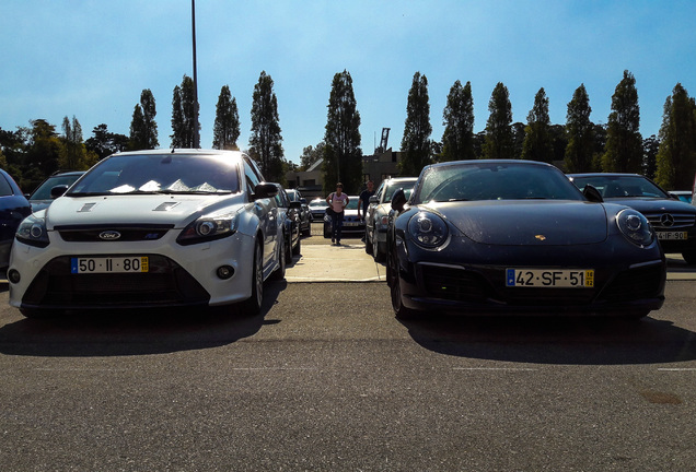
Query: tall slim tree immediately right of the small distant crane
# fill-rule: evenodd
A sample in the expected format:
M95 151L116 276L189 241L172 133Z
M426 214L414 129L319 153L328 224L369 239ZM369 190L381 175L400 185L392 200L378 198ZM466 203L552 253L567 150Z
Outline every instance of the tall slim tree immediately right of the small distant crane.
M420 72L414 74L414 81L408 91L406 105L406 122L402 138L402 161L399 173L406 176L417 176L422 168L430 164L430 99L428 97L428 78Z

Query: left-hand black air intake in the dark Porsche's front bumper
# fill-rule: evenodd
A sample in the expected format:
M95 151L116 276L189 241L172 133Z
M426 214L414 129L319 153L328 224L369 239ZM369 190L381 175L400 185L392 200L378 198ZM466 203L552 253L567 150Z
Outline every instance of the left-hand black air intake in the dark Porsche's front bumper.
M420 264L428 295L456 302L482 302L490 295L488 284L477 273L464 269Z

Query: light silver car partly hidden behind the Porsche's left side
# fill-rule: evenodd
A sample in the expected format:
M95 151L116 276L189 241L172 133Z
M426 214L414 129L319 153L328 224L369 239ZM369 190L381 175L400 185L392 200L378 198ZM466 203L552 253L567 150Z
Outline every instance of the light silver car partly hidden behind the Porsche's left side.
M410 196L416 177L394 177L382 181L380 188L370 197L368 214L364 217L364 250L375 261L382 262L386 255L386 229L388 227L392 196L399 188L406 198Z

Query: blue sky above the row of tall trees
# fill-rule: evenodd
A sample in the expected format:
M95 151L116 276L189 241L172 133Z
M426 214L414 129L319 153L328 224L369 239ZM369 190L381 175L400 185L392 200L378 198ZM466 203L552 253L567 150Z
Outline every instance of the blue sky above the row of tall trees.
M190 0L1 0L0 128L44 118L84 139L106 123L129 133L143 88L156 102L160 144L170 145L172 92L193 76ZM383 127L399 148L414 73L428 78L432 139L456 80L472 83L476 132L498 82L513 121L526 121L544 87L553 123L565 123L584 84L592 120L605 123L624 70L636 78L643 137L657 134L677 82L696 94L693 1L306 1L196 2L201 146L212 145L223 85L236 98L240 146L248 146L254 85L274 80L286 158L324 137L330 82L347 70L363 153Z

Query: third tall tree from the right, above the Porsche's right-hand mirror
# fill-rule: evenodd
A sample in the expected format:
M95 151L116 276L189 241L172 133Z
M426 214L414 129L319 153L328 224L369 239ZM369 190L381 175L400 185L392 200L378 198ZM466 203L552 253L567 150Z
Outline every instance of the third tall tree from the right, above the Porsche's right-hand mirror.
M568 145L566 146L566 170L569 173L585 173L593 170L594 155L594 125L590 121L590 96L581 84L572 94L568 103L566 115L566 131Z

